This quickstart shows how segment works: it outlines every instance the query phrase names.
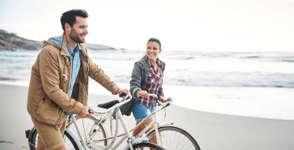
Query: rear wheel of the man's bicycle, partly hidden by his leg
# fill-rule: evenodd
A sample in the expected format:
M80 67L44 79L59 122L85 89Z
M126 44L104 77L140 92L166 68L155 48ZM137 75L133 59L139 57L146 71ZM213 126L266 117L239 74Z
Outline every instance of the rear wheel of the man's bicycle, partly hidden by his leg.
M38 132L35 128L33 128L30 132L32 134L29 141L30 150L36 150L38 144ZM64 144L67 150L79 150L79 147L76 141L70 136L70 134L65 130L63 135Z

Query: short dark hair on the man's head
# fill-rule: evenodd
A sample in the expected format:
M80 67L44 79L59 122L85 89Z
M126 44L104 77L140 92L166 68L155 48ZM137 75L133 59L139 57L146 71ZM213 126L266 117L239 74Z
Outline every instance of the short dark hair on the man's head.
M65 23L68 23L71 27L76 23L76 16L88 18L88 12L82 9L73 9L64 12L60 17L60 22L63 31L65 31Z

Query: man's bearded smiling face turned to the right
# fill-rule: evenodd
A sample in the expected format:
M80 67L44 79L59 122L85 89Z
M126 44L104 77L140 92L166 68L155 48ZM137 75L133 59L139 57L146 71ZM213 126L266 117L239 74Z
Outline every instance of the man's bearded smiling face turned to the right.
M88 23L86 18L76 16L76 23L71 27L70 38L76 43L85 43L88 34Z

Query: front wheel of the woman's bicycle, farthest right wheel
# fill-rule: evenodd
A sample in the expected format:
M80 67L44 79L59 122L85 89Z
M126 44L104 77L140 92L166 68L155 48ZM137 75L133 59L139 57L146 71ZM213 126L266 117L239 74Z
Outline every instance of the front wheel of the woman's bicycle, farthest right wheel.
M162 147L166 150L200 150L196 140L181 128L173 126L160 127L158 128L158 133ZM150 137L150 139L156 137L155 130L149 132L146 137Z

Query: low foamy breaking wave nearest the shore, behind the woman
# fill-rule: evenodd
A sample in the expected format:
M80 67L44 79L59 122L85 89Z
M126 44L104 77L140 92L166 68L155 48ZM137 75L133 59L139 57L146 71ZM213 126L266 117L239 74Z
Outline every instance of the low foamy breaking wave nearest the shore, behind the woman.
M220 87L286 87L294 88L293 74L280 73L241 73L241 72L194 72L178 71L179 75L165 73L165 84L189 86L220 86ZM129 82L130 75L111 76L114 81Z

